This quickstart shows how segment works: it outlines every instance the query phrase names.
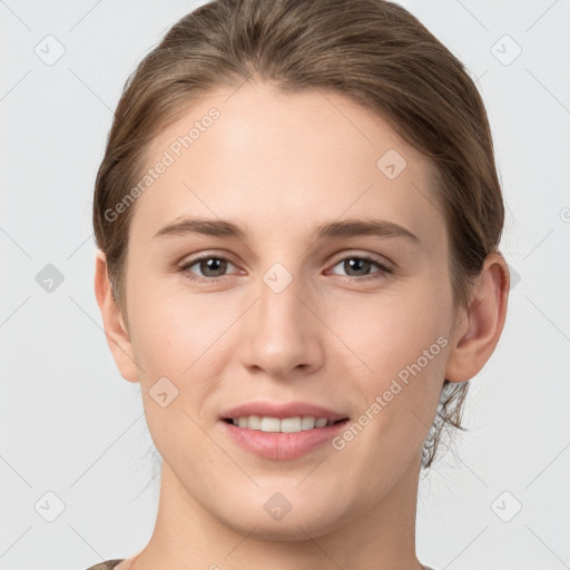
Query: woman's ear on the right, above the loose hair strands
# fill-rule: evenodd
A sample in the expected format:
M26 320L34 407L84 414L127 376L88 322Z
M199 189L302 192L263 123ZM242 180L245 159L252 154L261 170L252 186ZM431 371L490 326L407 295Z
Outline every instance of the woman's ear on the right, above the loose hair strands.
M489 254L469 308L458 312L445 368L450 382L472 379L491 357L507 316L510 276L499 253Z

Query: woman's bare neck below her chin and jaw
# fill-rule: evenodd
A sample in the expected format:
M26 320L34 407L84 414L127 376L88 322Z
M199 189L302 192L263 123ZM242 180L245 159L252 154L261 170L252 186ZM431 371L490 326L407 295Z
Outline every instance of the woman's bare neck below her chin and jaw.
M214 518L163 463L160 501L147 547L126 570L422 570L415 556L420 461L387 495L357 511L333 532L298 540L261 540ZM301 527L299 530L302 531Z

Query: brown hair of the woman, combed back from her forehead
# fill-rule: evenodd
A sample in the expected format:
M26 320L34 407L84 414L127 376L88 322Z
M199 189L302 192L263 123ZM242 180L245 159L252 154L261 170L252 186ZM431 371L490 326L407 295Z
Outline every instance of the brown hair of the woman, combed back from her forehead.
M106 213L140 179L155 137L214 89L237 89L250 79L286 94L321 89L350 97L431 159L454 307L469 307L473 278L498 252L504 207L487 112L464 66L414 16L385 0L214 0L176 22L140 61L115 112L92 222L121 312L136 205L116 219ZM444 380L422 449L424 469L444 428L465 430L468 389L469 381Z

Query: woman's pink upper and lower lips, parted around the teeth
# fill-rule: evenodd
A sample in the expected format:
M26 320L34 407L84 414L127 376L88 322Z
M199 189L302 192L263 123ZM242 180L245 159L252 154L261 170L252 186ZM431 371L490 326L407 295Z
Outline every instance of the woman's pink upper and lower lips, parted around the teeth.
M311 415L314 417L326 417L328 421L337 423L296 433L276 433L238 428L227 422L228 419L247 415L272 416L279 420ZM226 436L230 438L246 451L264 459L287 461L302 458L321 445L331 442L345 428L347 422L348 416L346 414L304 402L286 404L250 402L224 412L219 416L218 423Z

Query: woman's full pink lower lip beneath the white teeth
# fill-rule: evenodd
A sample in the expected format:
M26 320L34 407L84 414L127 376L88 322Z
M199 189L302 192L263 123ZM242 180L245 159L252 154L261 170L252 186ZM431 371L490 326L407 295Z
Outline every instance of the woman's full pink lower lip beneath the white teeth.
M343 420L326 428L314 428L296 433L248 430L225 421L222 421L222 424L228 435L245 450L261 458L283 461L301 458L320 445L331 442L345 428L347 422L348 420Z

